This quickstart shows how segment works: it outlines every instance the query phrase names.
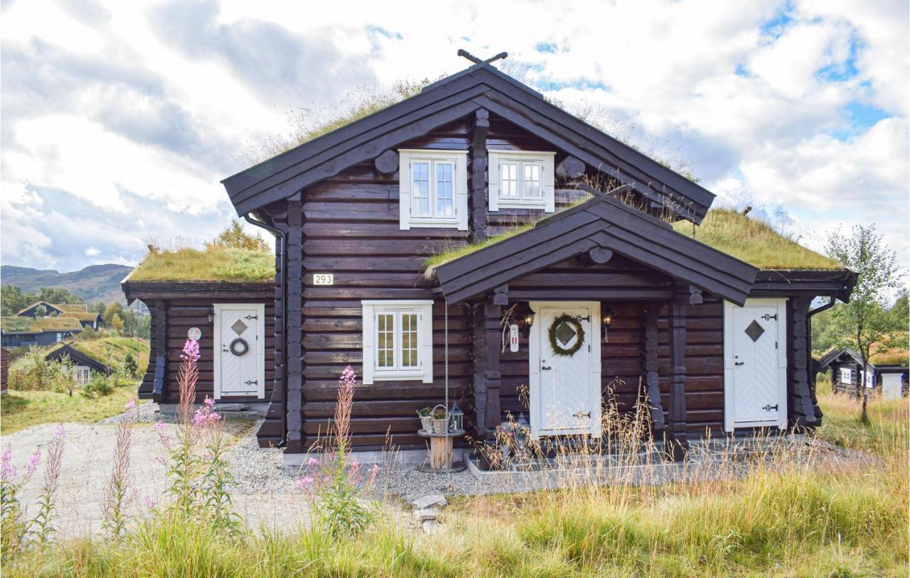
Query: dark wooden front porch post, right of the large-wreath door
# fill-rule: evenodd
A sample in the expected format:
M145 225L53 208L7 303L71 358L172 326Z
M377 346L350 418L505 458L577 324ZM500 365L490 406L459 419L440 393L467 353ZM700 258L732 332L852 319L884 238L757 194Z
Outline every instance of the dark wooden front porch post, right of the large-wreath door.
M673 460L680 461L689 450L685 409L685 315L691 293L684 286L669 305L670 333L670 423L666 449Z

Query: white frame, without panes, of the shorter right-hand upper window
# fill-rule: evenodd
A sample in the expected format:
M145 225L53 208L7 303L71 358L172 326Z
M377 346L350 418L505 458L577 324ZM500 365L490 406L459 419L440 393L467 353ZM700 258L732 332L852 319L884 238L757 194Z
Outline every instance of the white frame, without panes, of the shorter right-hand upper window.
M542 209L544 213L556 211L556 179L554 162L556 153L552 151L500 151L487 150L489 166L490 211L500 209ZM502 172L503 163L518 164L518 194L503 196ZM537 164L541 166L541 196L528 197L524 194L524 166Z

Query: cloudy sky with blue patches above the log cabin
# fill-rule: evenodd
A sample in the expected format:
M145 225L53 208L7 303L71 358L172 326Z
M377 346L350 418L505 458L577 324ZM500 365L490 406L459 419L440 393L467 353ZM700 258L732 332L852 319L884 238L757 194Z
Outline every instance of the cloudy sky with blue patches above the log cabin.
M910 254L905 0L0 5L4 264L132 264L149 238L208 237L234 215L219 181L289 113L457 72L458 48L508 51L716 204L815 248L875 223Z

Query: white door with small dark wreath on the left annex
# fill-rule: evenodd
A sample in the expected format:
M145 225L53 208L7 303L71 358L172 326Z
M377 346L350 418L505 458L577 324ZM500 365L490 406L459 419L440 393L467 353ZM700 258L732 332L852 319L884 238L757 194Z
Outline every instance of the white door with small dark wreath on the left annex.
M265 397L265 305L215 304L215 399Z

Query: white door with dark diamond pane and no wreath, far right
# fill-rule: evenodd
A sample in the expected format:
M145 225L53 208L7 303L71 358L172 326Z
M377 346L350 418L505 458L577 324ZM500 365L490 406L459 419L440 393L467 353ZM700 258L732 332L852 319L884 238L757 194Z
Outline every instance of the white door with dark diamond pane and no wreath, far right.
M786 427L786 300L724 304L723 425Z

